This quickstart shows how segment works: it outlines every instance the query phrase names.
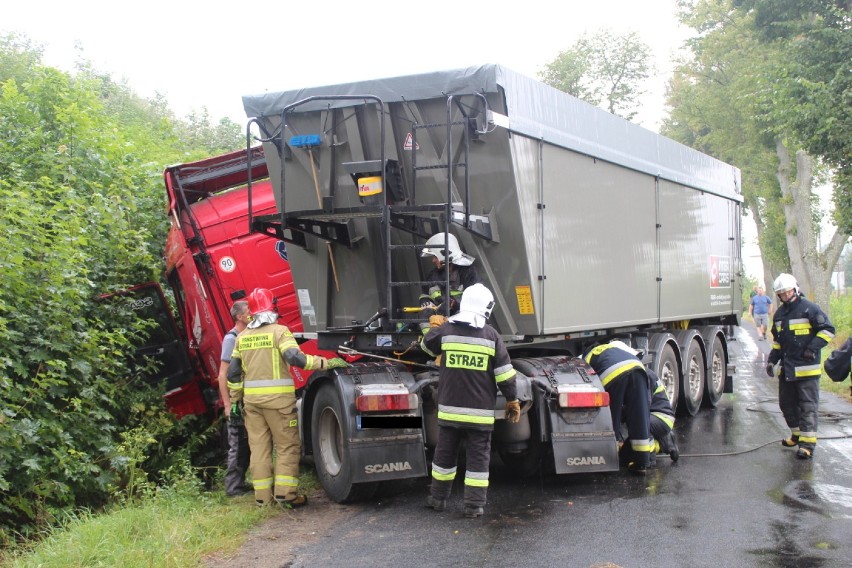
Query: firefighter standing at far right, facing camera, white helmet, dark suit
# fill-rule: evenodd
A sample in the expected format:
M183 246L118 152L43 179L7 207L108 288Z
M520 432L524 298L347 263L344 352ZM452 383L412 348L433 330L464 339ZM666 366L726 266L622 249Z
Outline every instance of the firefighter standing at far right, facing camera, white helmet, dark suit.
M778 405L792 434L781 440L785 448L795 448L796 457L812 459L817 442L821 352L834 337L834 326L819 306L799 292L796 279L778 275L773 289L781 305L772 318L772 351L766 373L778 370Z

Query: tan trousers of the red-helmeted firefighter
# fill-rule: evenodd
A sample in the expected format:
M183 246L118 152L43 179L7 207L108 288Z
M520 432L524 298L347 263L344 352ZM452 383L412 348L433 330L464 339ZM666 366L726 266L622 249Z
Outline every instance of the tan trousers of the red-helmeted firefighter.
M276 499L294 499L299 485L301 457L295 402L285 408L262 408L246 403L244 412L251 447L255 500L268 503L273 495Z

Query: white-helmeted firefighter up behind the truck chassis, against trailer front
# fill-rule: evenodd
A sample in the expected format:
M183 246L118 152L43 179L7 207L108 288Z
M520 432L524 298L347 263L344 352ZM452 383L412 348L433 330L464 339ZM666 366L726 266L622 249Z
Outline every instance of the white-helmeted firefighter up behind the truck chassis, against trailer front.
M444 235L447 235L447 246L444 247ZM473 266L474 257L462 252L459 241L452 233L437 233L429 237L425 248L420 253L423 258L431 257L434 268L426 275L427 281L446 281L444 267L446 263L445 253L449 257L450 265L450 314L458 312L459 298L465 288L481 283L479 273ZM436 310L447 297L444 294L444 286L432 283L424 287L420 295L420 307L423 310ZM447 312L443 312L447 313Z

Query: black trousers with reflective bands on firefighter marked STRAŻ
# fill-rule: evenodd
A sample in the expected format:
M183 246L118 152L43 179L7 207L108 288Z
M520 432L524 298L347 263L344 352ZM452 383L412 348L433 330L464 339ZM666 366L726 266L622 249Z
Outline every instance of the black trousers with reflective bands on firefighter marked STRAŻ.
M491 460L491 431L472 428L441 426L438 445L432 459L432 486L434 499L450 496L456 478L459 446L467 442L465 452L464 504L484 507L488 494L488 465Z

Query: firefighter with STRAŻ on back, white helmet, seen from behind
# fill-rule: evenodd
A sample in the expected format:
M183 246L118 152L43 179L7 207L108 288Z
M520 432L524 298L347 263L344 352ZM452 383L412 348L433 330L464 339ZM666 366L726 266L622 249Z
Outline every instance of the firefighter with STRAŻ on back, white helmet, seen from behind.
M423 350L438 354L438 445L432 460L432 484L426 505L443 511L456 477L459 446L467 441L464 516L483 514L497 390L506 397L506 419L521 418L515 369L497 331L486 321L494 296L482 284L465 288L459 312L421 340Z

